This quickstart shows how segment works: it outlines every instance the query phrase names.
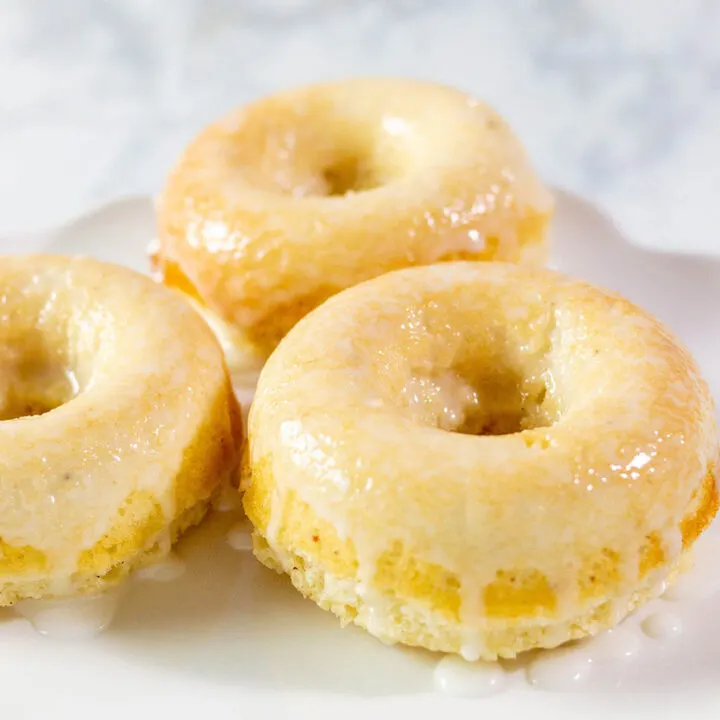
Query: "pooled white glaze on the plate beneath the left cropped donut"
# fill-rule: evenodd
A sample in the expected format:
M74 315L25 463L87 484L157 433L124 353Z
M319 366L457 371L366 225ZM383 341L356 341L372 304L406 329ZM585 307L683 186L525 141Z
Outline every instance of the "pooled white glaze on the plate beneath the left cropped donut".
M57 640L83 640L105 630L115 617L120 593L108 591L67 600L23 600L15 611L40 633Z

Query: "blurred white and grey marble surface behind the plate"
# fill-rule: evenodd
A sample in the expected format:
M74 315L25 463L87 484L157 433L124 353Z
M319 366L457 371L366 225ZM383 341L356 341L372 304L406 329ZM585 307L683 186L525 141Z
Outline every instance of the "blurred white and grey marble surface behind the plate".
M720 0L0 0L0 237L154 193L216 115L350 74L469 90L634 241L720 252Z

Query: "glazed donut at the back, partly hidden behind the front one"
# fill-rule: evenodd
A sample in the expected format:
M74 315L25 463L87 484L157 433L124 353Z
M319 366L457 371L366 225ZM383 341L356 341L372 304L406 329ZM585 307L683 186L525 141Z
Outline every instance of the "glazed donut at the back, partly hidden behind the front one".
M439 85L303 87L211 125L158 201L157 275L231 368L259 368L312 308L389 270L542 264L552 200L503 120Z

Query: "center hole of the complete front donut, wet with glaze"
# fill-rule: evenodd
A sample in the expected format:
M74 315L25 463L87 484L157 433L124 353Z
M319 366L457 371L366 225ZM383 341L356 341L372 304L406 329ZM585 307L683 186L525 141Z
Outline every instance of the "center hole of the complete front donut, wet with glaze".
M555 372L561 334L552 306L537 298L522 317L506 312L502 298L472 285L388 309L375 327L392 342L370 345L375 392L423 425L462 435L527 433L528 447L543 446L545 433L531 431L564 412Z

